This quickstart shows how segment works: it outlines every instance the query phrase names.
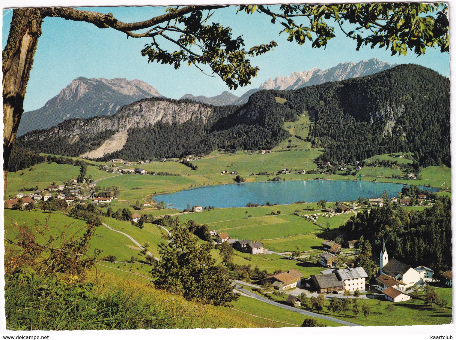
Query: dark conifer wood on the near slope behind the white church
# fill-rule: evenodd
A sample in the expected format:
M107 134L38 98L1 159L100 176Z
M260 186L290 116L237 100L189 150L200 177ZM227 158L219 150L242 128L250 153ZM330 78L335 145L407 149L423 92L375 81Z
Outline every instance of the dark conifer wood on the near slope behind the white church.
M447 196L423 211L406 211L402 206L394 211L387 201L370 213L352 216L339 228L346 239L368 239L378 253L384 239L389 257L412 267L451 270L451 199Z

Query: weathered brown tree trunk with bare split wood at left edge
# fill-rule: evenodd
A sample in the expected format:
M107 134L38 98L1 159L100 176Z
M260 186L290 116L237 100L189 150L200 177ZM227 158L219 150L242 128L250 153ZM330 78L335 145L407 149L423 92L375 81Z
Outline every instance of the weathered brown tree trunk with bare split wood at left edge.
M44 15L39 8L13 11L10 34L3 50L3 179L4 195L8 164L17 128L24 112L24 96Z

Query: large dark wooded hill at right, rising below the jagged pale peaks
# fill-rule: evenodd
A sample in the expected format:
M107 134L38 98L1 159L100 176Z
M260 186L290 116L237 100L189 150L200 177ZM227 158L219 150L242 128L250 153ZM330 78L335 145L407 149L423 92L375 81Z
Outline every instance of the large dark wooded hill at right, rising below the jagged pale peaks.
M274 96L286 100L283 117L290 111L315 111L309 139L325 148L322 160L342 163L418 152L423 167L450 165L450 81L425 67L405 64L299 90L261 91L250 100L268 110Z

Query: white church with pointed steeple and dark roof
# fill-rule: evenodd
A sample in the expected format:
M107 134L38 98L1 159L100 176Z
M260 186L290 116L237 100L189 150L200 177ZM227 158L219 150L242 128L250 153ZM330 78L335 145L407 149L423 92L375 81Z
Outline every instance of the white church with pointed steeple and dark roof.
M384 240L383 250L380 251L380 274L385 274L404 282L405 288L412 287L421 280L420 273L411 266L396 259L389 260Z

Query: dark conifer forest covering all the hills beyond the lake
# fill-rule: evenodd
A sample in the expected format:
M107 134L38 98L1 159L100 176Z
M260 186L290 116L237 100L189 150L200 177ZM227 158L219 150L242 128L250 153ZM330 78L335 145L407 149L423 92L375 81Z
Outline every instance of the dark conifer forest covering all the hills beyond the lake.
M286 102L278 103L275 97ZM131 128L124 148L99 160L182 157L215 149L272 149L290 137L284 122L297 120L306 110L315 113L308 140L314 147L325 148L321 160L347 163L376 154L416 152L422 167L450 165L450 82L419 65L399 65L361 78L298 90L262 90L250 96L244 106L212 108L214 114L206 123L158 122L147 128ZM18 138L17 145L77 156L96 149L113 133L80 136L70 143L64 137L37 140L42 131L26 134L27 140Z

